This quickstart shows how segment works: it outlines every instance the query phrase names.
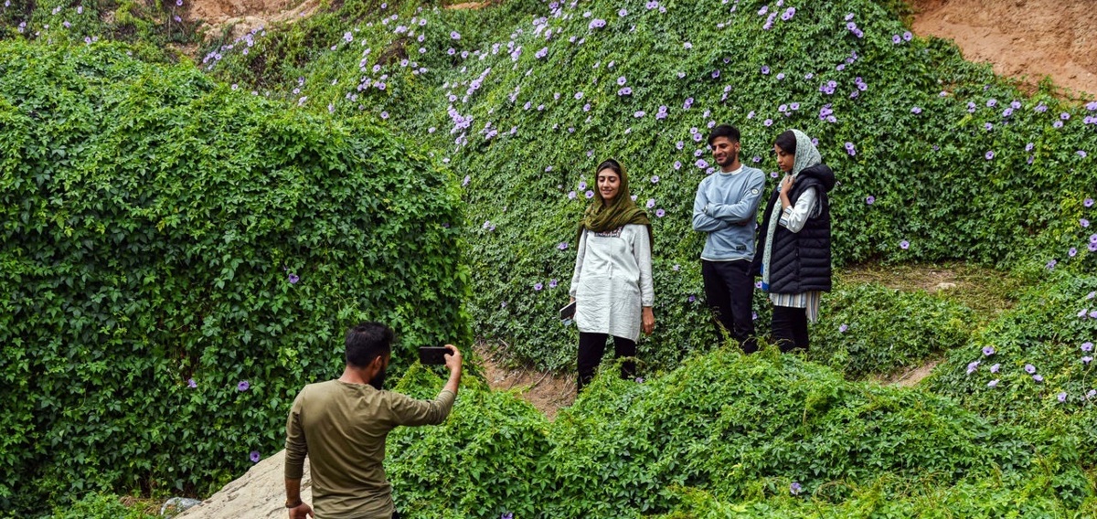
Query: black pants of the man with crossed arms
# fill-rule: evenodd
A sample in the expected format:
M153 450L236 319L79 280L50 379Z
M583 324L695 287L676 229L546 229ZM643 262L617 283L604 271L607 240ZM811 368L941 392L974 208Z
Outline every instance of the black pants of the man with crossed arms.
M705 261L701 260L701 278L704 279L704 297L712 309L716 324L716 335L723 340L723 331L739 342L745 353L758 351L755 341L754 277L750 261Z

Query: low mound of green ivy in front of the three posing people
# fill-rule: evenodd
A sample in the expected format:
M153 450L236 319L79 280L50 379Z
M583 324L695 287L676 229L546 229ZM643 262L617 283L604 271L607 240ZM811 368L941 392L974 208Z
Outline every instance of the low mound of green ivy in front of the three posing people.
M442 382L416 368L397 390ZM553 422L470 380L443 426L394 431L387 470L409 518L1097 512L1059 448L949 398L723 348L644 381L599 377Z

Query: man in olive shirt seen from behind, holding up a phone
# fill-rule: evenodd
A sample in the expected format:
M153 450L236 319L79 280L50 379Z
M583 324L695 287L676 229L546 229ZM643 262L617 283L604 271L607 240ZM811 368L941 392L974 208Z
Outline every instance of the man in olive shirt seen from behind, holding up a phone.
M285 507L290 519L316 517L301 500L305 455L313 504L321 519L397 519L385 476L385 438L396 426L438 425L461 383L461 352L445 356L450 380L433 400L382 391L392 357L392 328L363 323L347 332L347 366L337 380L308 384L285 424Z

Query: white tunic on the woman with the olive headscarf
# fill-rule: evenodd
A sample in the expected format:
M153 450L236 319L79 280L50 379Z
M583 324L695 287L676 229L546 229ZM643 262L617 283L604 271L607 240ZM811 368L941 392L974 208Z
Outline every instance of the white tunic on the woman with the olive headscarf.
M647 226L584 230L569 294L579 331L638 339L641 309L655 303Z

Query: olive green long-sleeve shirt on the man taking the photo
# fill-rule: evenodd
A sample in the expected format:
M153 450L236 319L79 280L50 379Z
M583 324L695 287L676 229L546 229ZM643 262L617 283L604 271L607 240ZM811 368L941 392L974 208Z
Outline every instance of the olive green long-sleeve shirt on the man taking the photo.
M384 518L394 511L385 476L385 438L396 426L441 424L456 395L417 400L371 385L328 381L297 394L285 424L285 477L312 464L318 519Z

